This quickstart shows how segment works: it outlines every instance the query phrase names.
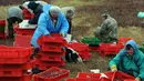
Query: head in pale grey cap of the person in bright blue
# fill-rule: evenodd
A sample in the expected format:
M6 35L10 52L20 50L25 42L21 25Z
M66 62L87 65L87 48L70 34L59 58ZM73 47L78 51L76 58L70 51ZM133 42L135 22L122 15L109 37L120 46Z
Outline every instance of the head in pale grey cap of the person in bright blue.
M58 16L60 14L61 9L56 6L52 6L49 10L49 13L52 18L58 18Z

